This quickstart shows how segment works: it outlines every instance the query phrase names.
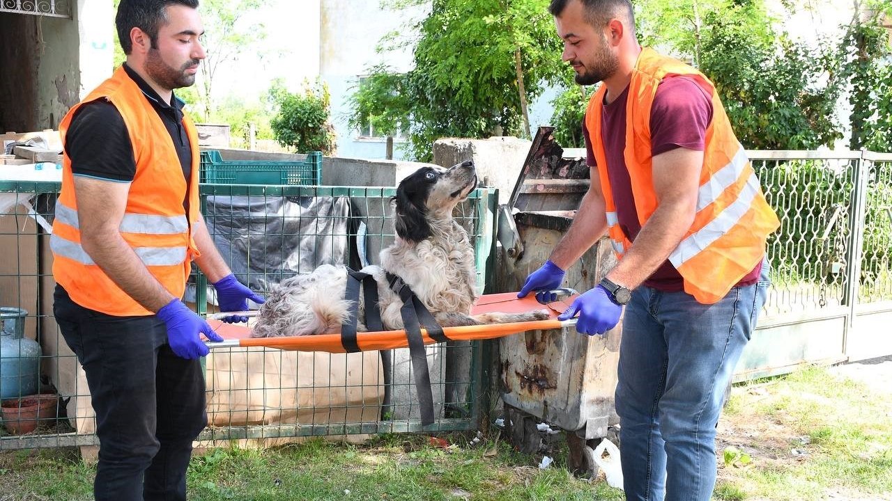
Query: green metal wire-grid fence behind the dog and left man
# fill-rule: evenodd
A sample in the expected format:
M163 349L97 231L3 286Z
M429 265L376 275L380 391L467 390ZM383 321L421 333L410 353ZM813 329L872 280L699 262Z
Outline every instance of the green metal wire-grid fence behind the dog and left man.
M0 449L98 444L86 379L54 323L49 235L37 223L52 221L58 190L58 183L0 182L0 305L28 311L25 336L43 348L34 375L41 391L59 395L60 411L27 435L0 427ZM393 239L394 188L202 185L201 194L224 258L261 293L323 262L376 264ZM455 212L475 246L479 292L491 272L497 200L494 190L480 188ZM186 300L201 313L215 308L212 288L199 273L190 279ZM483 343L427 347L436 409L428 426L420 422L404 351L392 350L385 375L378 352L214 349L204 359L210 425L200 439L275 444L301 436L475 429L489 395L482 387Z

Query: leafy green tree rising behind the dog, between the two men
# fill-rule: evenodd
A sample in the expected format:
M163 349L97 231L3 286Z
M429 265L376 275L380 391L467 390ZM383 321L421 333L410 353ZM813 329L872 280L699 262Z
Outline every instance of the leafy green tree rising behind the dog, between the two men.
M390 7L418 3L402 0ZM351 98L351 124L372 117L385 133L394 130L388 125L408 127L409 154L417 160L431 160L434 140L442 136L520 135L524 100L532 101L566 72L548 4L434 0L430 14L404 30L419 37L414 68L403 74L370 69L367 85Z

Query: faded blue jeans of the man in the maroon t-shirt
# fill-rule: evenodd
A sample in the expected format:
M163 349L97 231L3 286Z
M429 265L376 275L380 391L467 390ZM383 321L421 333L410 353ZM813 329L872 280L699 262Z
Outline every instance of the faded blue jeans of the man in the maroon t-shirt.
M764 305L759 282L704 305L640 286L625 308L616 414L626 499L708 501L724 392Z

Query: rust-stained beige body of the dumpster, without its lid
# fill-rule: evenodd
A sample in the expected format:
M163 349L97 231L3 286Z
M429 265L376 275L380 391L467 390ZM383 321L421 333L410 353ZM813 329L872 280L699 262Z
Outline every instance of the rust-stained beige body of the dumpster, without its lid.
M526 251L513 267L498 267L500 287L520 289L526 276L548 259L563 231L517 224ZM567 270L568 287L591 289L615 258L606 240L599 241ZM506 404L586 438L607 434L618 422L614 409L616 365L621 327L605 336L575 329L531 331L500 340L502 398Z

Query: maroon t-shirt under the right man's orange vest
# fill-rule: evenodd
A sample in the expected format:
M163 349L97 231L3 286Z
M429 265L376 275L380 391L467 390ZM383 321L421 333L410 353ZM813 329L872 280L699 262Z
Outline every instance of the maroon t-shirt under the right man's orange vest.
M632 181L625 167L625 119L626 99L629 88L613 101L605 104L601 113L601 140L607 155L607 175L616 205L616 218L623 233L634 242L641 230L638 210L632 196ZM665 78L657 86L657 94L650 109L650 154L657 156L675 148L704 150L706 127L713 119L713 102L690 78L675 76ZM595 167L595 153L591 146L588 127L582 119L582 137L588 152L587 163ZM756 283L762 263L740 279L738 285ZM684 290L684 282L678 270L668 259L644 282L648 287L666 292Z

